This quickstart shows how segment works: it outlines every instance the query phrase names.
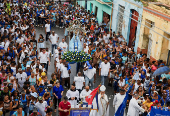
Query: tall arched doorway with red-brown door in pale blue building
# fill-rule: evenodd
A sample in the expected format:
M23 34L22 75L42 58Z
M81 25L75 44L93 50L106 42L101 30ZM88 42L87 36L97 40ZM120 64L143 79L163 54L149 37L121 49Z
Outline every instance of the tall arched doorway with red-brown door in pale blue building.
M136 39L136 33L137 33L137 26L138 26L138 17L139 17L139 13L132 9L131 10L131 24L130 24L130 35L129 35L129 44L128 46L129 47L132 47L132 44L134 43L135 44L135 39ZM133 44L133 45L134 45Z

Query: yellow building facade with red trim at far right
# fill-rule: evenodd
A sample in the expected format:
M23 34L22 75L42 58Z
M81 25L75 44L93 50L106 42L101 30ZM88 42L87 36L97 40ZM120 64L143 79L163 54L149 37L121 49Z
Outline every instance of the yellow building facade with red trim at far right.
M166 0L164 0L166 1ZM163 3L150 3L143 10L138 52L142 51L152 60L170 64L170 12ZM168 13L169 12L169 13Z

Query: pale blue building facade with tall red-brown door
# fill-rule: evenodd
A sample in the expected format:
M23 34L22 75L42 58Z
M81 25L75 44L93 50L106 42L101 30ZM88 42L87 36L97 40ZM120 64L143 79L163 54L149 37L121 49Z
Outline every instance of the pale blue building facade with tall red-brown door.
M126 39L129 47L134 41L137 51L143 4L134 0L113 0L112 30Z

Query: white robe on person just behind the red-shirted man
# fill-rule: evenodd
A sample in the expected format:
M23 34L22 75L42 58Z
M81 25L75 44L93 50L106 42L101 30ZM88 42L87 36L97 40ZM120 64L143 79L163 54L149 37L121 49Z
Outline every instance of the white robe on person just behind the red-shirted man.
M68 101L71 104L71 108L77 108L77 100L79 99L79 92L77 90L76 91L68 90L66 96L68 97ZM76 97L77 99L70 100L72 97Z

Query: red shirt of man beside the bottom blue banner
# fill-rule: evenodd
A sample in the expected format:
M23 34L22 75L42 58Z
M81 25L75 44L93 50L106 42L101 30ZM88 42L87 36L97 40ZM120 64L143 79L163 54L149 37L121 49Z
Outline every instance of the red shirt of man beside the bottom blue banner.
M67 102L66 104L64 104L64 102L61 101L59 103L59 108L61 108L63 110L65 110L65 109L69 110L71 108L71 104L70 104L70 102ZM67 116L67 115L69 115L69 112L60 111L60 116Z

